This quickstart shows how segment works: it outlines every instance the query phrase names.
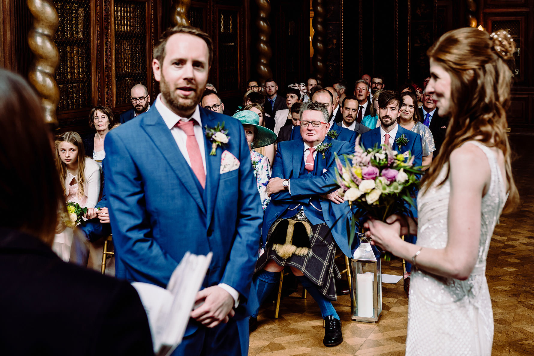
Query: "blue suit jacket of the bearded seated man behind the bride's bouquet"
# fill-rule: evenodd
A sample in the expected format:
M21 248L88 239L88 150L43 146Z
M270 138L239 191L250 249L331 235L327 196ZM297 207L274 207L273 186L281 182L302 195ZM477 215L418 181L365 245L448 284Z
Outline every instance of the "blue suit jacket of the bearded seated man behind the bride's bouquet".
M403 133L404 135L406 135L408 143L406 145L400 146L399 150L397 144L395 143L395 140L401 135L403 135ZM375 144L378 144L380 146L380 126L378 126L378 128L376 129L363 133L360 143L364 146L365 149L372 148ZM421 135L419 135L419 133L406 130L405 128L399 125L397 135L395 136L391 148L395 151L398 151L399 153L410 151L412 153L412 156L414 157L413 167L419 167L423 162L423 146L421 144ZM410 209L412 210L414 217L417 217L417 209L415 209L414 207L410 207Z

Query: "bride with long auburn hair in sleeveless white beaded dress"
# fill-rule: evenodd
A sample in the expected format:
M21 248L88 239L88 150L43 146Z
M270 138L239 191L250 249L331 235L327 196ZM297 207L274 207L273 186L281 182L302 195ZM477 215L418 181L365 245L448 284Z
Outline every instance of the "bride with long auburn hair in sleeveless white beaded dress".
M493 313L485 277L493 228L519 201L505 111L515 46L504 30L460 28L427 52L426 93L449 117L446 138L422 180L418 221L368 221L374 244L413 263L406 355L491 355ZM417 234L417 244L399 239Z

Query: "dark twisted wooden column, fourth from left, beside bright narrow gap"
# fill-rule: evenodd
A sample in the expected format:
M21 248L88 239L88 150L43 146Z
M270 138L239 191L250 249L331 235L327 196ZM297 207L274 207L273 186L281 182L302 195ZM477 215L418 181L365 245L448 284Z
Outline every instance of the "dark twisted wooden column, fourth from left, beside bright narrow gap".
M313 39L311 41L311 45L313 47L313 57L311 59L311 64L313 66L313 74L317 78L317 84L323 85L323 80L326 72L326 1L313 0L312 9L313 19L311 20L311 26L315 33L313 34Z

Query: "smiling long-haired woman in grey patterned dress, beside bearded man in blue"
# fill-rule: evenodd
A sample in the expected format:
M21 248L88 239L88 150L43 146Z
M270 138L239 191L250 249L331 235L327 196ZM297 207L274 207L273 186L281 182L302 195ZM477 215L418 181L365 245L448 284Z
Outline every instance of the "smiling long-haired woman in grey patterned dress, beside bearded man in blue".
M428 126L423 125L419 110L417 110L417 96L410 91L405 91L400 94L402 104L400 104L399 125L415 133L421 135L421 143L423 145L423 170L428 169L432 163L433 152L436 151L434 145L434 137Z

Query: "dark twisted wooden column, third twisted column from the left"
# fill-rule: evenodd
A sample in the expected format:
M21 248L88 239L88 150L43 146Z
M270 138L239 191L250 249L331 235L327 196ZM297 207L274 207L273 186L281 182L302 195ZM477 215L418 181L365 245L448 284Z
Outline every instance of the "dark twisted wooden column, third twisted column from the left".
M268 17L271 12L271 4L269 0L256 0L258 5L258 17L256 19L256 27L258 28L258 43L256 48L258 50L258 64L256 70L260 76L260 85L264 85L265 81L272 77L269 60L272 56L271 46L269 45L269 36L271 35L271 25Z

